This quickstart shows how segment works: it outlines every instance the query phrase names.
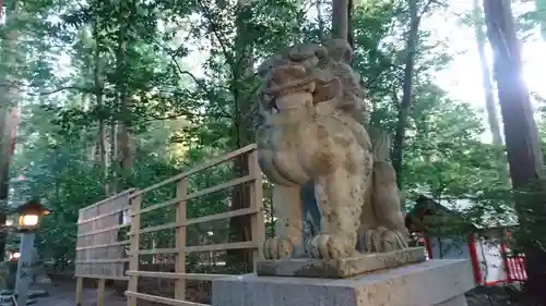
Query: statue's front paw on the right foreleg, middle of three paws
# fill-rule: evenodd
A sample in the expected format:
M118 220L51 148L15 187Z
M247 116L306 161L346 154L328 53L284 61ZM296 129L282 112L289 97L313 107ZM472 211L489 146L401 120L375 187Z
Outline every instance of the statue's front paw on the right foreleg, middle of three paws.
M355 253L355 240L351 235L317 235L310 244L313 258L344 258Z

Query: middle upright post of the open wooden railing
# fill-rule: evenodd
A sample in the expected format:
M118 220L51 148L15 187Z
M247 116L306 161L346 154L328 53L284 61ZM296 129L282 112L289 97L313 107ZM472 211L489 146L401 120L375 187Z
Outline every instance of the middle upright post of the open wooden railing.
M183 197L188 193L188 180L182 179L178 182L176 188L176 196ZM176 221L178 223L186 222L187 207L186 201L180 201L176 208ZM178 254L176 255L175 272L185 273L186 272L186 227L179 227L176 229L176 248L178 248ZM175 298L186 299L186 280L178 279L175 283Z

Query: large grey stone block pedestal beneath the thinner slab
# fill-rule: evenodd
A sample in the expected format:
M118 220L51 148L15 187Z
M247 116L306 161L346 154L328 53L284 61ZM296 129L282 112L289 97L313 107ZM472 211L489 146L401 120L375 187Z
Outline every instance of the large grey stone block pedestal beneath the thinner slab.
M214 306L466 306L470 260L440 259L348 279L246 274L213 282Z

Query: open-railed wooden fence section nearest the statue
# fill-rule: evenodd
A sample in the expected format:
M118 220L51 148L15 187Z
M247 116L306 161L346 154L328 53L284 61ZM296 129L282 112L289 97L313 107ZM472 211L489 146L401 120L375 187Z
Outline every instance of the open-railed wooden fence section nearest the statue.
M188 179L206 169L216 167L221 163L229 161L235 158L246 157L248 166L248 174L241 178L235 178L228 182L209 186L199 191L188 192ZM176 184L176 196L163 203L155 203L145 205L144 198L146 194L152 193L168 184ZM187 204L191 199L203 197L205 195L221 192L227 188L239 187L244 184L248 186L249 207L238 210L229 210L227 212L203 216L198 218L187 218L188 207ZM159 303L164 305L191 305L199 306L204 304L197 304L186 302L186 281L212 281L217 278L233 277L228 274L210 274L210 273L189 273L187 272L186 261L189 253L198 252L218 252L229 249L251 249L253 260L258 259L262 254L261 248L265 238L264 220L262 212L262 174L258 166L258 156L256 145L249 145L236 151L227 154L221 158L209 161L192 170L173 176L161 183L152 185L141 191L131 194L131 231L130 231L130 253L129 253L129 285L126 292L128 297L128 306L136 306L138 301L149 301L152 303ZM145 225L143 224L143 216L159 209L174 208L176 220L164 224ZM187 245L187 228L192 224L204 222L225 220L234 217L248 216L251 224L251 240L245 242L232 242L222 244L210 245ZM175 245L173 247L152 247L141 249L141 235L146 233L154 233L164 230L175 230ZM227 231L227 229L225 229ZM156 271L142 271L140 270L140 257L145 255L166 255L170 254L175 257L174 272L156 272ZM159 295L152 295L139 292L140 278L154 278L154 279L168 279L175 280L175 296L164 297Z

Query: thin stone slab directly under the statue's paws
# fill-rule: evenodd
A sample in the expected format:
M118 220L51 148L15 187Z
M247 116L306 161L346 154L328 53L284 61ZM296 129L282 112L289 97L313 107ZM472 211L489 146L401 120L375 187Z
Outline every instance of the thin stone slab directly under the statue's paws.
M423 247L363 254L357 257L340 259L288 258L258 261L256 273L261 277L345 279L371 271L422 262L425 261L425 248Z

